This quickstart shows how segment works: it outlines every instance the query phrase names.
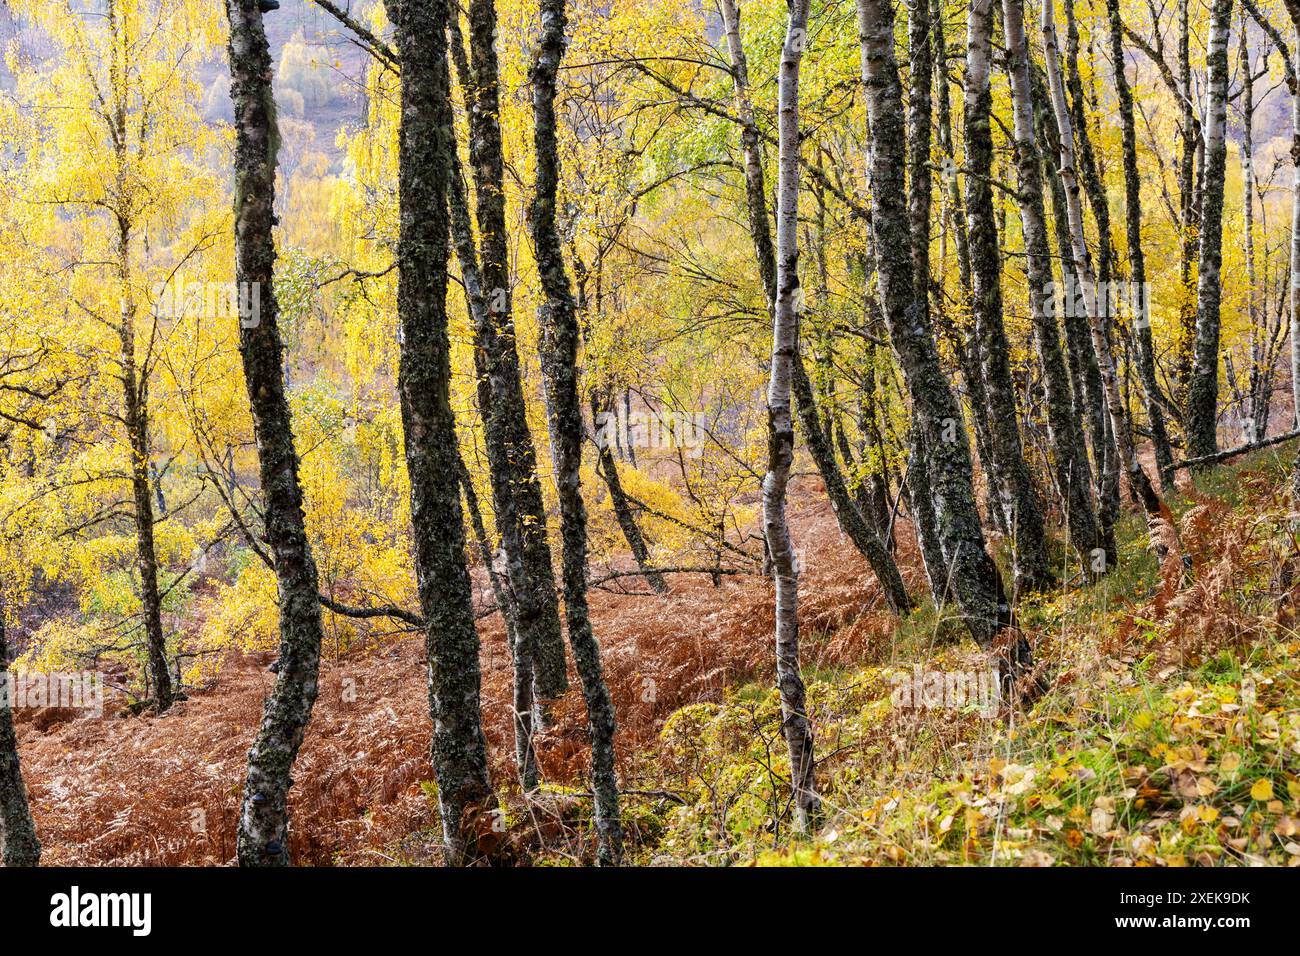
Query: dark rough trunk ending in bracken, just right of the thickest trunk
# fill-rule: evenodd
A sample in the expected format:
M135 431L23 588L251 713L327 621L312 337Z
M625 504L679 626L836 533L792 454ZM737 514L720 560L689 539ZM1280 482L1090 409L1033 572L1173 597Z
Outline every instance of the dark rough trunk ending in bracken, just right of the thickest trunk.
M517 602L520 650L537 696L568 688L555 571L537 453L528 428L512 317L510 235L506 226L504 150L500 135L495 0L469 3L469 166L474 176L482 250L484 308L474 316L474 363L482 410L493 512Z

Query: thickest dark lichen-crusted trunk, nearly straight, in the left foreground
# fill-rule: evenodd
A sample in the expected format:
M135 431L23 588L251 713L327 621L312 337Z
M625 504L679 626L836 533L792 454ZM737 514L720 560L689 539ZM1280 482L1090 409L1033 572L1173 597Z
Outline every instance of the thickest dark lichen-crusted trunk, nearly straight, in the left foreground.
M402 0L390 14L402 60L398 386L411 480L411 520L429 657L433 770L447 860L478 856L495 808L480 709L478 632L465 567L460 453L450 403L447 339L448 173L454 130L446 0Z

